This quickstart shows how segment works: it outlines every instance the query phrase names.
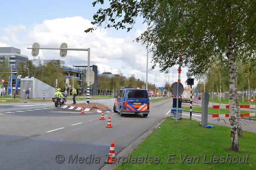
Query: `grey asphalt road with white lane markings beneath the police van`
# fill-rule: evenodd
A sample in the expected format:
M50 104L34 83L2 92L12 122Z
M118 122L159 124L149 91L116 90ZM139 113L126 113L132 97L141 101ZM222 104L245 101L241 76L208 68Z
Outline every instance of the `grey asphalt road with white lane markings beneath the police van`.
M104 101L113 105L113 99ZM1 169L98 170L105 165L112 141L118 154L168 116L171 107L168 99L151 103L148 117L121 117L110 111L99 120L101 113L80 114L52 102L0 104ZM106 128L109 116L112 128Z

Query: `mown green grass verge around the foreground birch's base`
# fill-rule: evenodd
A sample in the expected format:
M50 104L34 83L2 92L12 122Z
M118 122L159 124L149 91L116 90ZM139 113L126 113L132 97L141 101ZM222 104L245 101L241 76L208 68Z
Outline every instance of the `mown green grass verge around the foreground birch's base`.
M238 140L239 152L232 152L230 128L214 126L204 128L195 120L176 122L168 117L127 159L119 159L123 162L115 170L255 169L256 135L243 131L244 137Z

